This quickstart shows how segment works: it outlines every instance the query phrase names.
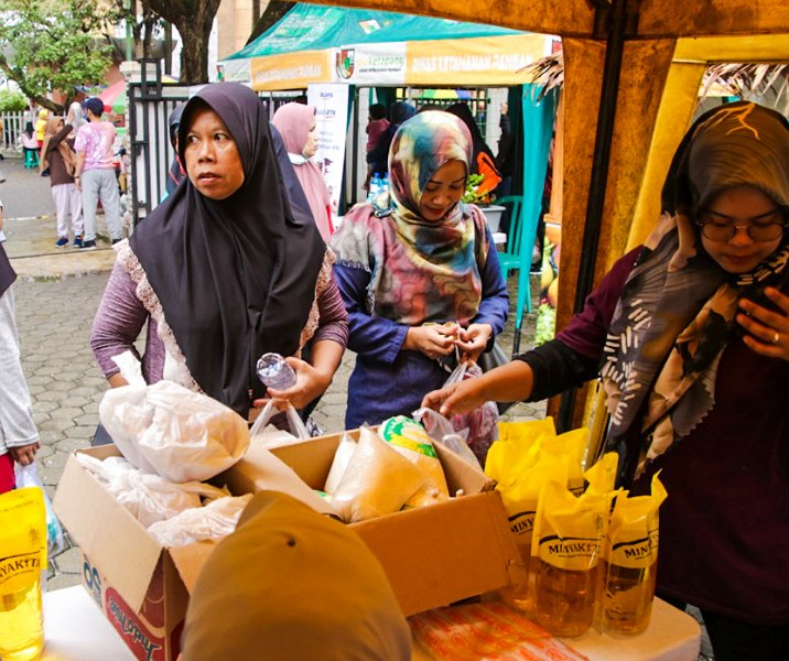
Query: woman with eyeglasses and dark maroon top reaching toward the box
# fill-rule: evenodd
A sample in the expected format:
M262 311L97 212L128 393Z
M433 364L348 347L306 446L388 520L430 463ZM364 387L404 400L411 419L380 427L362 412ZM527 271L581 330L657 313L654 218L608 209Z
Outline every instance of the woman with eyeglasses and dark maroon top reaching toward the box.
M789 124L710 111L674 155L663 214L556 338L429 393L444 414L602 377L619 483L668 499L657 592L693 604L716 661L789 659Z

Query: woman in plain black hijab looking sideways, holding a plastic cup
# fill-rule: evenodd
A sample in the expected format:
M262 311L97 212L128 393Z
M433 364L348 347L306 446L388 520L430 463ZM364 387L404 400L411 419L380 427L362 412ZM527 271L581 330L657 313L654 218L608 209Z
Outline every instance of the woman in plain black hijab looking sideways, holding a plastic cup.
M332 254L312 217L288 201L266 110L241 85L207 85L186 105L179 156L187 181L127 242L94 321L91 346L110 380L111 358L134 350L150 319L143 376L201 390L247 416L267 394L296 408L328 387L347 340ZM296 386L267 393L261 354L289 358Z

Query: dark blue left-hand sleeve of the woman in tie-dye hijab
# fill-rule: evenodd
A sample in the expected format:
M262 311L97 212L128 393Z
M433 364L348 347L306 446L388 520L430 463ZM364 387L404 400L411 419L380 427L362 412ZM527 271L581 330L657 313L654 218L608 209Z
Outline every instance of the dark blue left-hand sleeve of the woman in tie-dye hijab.
M348 311L348 348L375 360L394 362L406 342L408 326L367 314L365 301L370 282L367 271L334 264L334 277Z

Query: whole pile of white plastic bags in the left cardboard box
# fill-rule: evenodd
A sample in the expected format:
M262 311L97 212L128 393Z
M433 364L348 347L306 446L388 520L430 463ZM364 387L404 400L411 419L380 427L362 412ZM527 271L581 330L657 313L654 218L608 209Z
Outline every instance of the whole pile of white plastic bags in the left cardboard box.
M233 497L202 483L244 456L247 422L171 381L145 384L130 351L114 360L129 384L105 393L99 418L123 458L101 462L78 454L78 460L160 543L175 546L227 535L251 496Z

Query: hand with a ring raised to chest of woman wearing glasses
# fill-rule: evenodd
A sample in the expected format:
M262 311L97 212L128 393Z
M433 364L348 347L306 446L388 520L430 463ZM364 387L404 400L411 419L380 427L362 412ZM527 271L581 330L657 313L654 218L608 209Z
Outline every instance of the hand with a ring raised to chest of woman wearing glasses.
M789 296L772 286L765 290L765 295L780 312L742 299L737 323L748 332L743 342L757 354L789 360Z

